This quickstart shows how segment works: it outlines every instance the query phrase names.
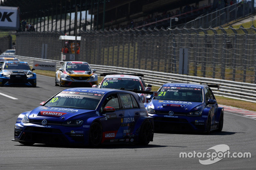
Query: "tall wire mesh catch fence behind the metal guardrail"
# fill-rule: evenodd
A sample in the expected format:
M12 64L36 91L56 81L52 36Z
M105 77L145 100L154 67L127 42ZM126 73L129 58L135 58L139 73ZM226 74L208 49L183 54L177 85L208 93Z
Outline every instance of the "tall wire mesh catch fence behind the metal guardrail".
M60 33L21 32L16 54L61 60ZM255 84L256 28L114 29L80 32L80 55L90 64L179 73L180 48L188 49L188 76ZM42 49L47 45L46 54ZM122 70L120 70L122 71Z

